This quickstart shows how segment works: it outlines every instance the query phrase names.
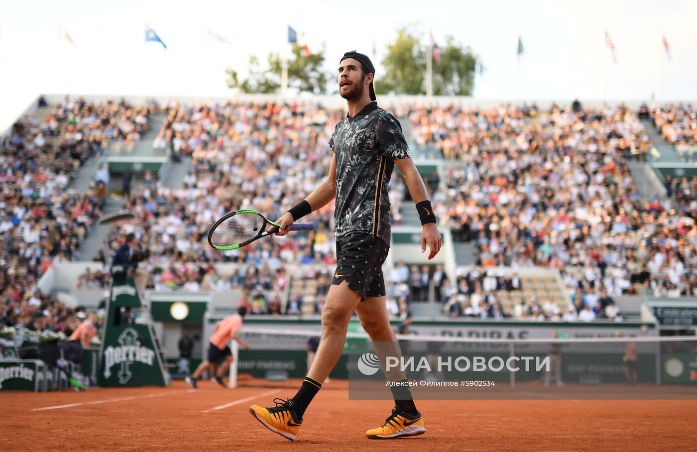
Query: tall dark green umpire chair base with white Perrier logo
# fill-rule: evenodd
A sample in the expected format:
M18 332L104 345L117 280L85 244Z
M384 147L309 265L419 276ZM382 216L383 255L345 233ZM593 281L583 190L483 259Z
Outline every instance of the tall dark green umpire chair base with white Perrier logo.
M132 279L112 286L100 348L100 386L170 384L151 325L137 322L140 308Z

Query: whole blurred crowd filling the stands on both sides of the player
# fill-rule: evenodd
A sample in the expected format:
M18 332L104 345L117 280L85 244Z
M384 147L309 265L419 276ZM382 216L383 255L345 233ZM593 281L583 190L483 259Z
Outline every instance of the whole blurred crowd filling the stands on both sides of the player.
M167 114L155 148L191 157L190 171L181 188L164 186L150 174L125 193L124 208L137 221L109 233L112 247L131 232L148 244L150 288L240 288L253 313L299 313L307 302L319 312L328 289L328 276L321 272L301 276L317 282L309 299L291 291L285 306L277 302L295 276L296 264L330 268L335 263L330 206L307 217L315 231L294 234L293 240L274 237L234 251L215 251L206 243L208 228L224 213L255 208L275 219L325 176L331 157L328 139L344 112L311 102L169 101L133 108L127 102L76 100L56 106L44 119L25 116L3 144L3 176L17 180L21 188L8 196L12 190L5 187L3 251L11 247L21 252L6 252L3 268L18 269L17 258L8 265L10 256L22 256L27 273L36 279L54 260L76 256L87 226L100 215L100 187L108 183L108 174L86 194L71 190L70 178L86 158L103 153L110 139L140 139L155 111ZM397 114L408 118L403 123L410 125L416 145L434 146L448 161L441 184L445 190L434 190L433 201L456 239L475 240L482 269L559 268L574 306L559 312L546 300L528 299L505 312L495 291L509 283L487 288L484 276L471 273L448 281L436 276L442 269L399 263L387 278L388 306L395 314L405 314L408 302L429 296L430 287L448 315L494 318L590 318L583 313L585 306L595 317L617 318L614 307L608 311L607 299L613 296L697 293L697 178L666 181L668 198L641 199L627 161L645 159L652 143L629 109L415 105L397 109ZM666 115L671 127L682 127L680 139L689 139L694 110L651 112L664 129ZM54 158L57 163L40 166L42 160L35 157L42 154L43 162ZM396 221L404 190L395 178L390 198ZM17 240L17 231L24 240ZM240 266L220 275L213 263ZM103 288L108 275L88 272L78 284ZM603 300L600 306L598 300Z

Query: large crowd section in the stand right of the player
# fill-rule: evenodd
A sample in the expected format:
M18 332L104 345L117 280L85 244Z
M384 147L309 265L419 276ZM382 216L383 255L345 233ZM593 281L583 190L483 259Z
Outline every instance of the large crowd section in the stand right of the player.
M695 192L641 199L627 160L650 140L631 111L437 110L412 114L417 140L456 160L435 201L482 267L557 267L590 299L697 293Z

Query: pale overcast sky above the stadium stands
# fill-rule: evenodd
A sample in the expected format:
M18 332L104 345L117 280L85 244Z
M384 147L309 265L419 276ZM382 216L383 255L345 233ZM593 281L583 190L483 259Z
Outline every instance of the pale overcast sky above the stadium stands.
M695 17L697 1L689 0L0 0L0 131L42 92L229 95L224 68L245 72L250 54L265 59L283 49L288 25L311 50L325 43L328 69L348 49L369 54L377 83L387 43L411 26L424 42L429 31L437 42L453 36L481 57L476 98L696 100ZM144 23L166 50L144 42Z

